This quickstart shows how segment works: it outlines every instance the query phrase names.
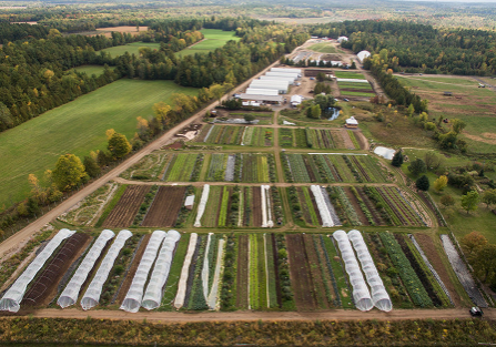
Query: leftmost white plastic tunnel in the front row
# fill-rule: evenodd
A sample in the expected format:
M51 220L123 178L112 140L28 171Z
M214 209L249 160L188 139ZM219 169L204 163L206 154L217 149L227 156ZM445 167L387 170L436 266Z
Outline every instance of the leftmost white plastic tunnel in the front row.
M6 295L0 300L0 310L19 312L20 303L24 297L28 285L33 280L38 272L43 267L44 263L52 256L53 252L60 246L62 241L71 237L75 231L67 228L60 229L55 236L48 243L48 245L40 252L40 254L29 264L28 268L7 290Z

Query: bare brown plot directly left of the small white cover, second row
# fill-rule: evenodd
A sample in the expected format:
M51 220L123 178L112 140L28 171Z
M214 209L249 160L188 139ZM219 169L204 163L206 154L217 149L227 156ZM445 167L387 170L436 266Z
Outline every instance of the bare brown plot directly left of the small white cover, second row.
M174 226L185 192L185 186L161 186L141 225Z

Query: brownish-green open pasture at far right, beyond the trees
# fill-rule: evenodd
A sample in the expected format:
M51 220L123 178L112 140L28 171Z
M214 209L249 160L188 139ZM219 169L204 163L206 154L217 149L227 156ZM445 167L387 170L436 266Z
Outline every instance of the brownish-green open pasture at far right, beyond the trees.
M460 119L467 123L463 139L468 151L492 153L496 144L496 98L495 92L478 88L478 81L470 76L422 75L396 78L411 86L422 99L428 100L429 115ZM444 92L453 96L444 96Z

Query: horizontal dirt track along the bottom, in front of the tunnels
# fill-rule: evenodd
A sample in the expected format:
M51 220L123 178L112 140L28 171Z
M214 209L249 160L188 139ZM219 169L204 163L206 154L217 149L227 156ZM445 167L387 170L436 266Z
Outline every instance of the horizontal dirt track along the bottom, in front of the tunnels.
M496 309L484 309L485 318L489 320L496 319ZM143 322L156 322L156 323L185 323L185 322L256 322L260 319L283 322L283 320L364 320L364 319L377 319L377 320L405 320L405 319L454 319L454 318L469 318L468 309L466 308L449 308L449 309L393 309L389 313L378 312L376 309L367 313L360 312L357 309L335 309L328 312L205 312L185 314L178 312L139 312L130 314L122 310L99 310L92 309L83 312L75 308L65 309L37 309L37 310L23 310L17 315L1 314L0 316L30 316L36 318L65 318L65 319L87 319L91 317L93 319L124 319L124 320L138 320Z

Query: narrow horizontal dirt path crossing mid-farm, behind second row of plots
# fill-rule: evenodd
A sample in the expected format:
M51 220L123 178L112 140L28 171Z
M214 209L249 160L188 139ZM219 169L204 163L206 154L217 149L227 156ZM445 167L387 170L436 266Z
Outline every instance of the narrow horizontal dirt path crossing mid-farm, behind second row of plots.
M209 185L243 185L243 186L261 186L262 184L270 184L280 187L289 187L289 186L308 186L313 184L325 184L325 185L337 185L337 186L356 186L356 183L289 183L289 182L276 182L276 183L243 183L243 182L156 182L156 181L131 181L122 177L113 178L114 182L121 184L133 184L133 185L193 185L193 186L203 186L205 184ZM366 183L368 186L396 186L396 183Z

